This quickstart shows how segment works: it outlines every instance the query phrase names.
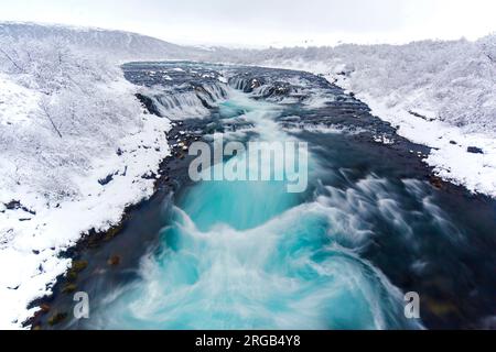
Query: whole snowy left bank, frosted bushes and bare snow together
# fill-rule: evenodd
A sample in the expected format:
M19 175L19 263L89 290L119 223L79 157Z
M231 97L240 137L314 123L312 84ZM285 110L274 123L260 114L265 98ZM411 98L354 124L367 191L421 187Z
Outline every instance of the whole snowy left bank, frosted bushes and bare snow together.
M170 120L144 112L117 63L60 43L0 35L0 329L50 294L61 251L152 195L142 176L170 153Z

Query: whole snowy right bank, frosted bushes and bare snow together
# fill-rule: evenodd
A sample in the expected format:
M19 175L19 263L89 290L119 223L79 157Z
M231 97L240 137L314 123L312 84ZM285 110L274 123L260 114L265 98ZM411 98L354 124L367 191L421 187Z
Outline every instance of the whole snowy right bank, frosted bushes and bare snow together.
M496 35L399 46L218 48L212 59L323 75L400 135L432 147L425 162L439 176L496 197Z

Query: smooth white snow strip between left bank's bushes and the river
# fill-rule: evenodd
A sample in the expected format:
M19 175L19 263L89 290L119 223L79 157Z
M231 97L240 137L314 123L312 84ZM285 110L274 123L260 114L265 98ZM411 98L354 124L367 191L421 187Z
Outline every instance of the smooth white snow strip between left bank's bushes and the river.
M2 189L0 201L20 199L24 209L0 209L0 328L17 328L33 311L26 305L50 293L50 285L64 273L69 260L57 257L90 228L106 230L121 219L123 209L152 195L153 179L141 176L158 172L168 155L164 131L169 121L142 116L143 129L118 142L121 154L103 153L85 175L74 175L80 194L75 198L46 204L37 193ZM114 175L103 186L99 179ZM68 175L67 175L68 176ZM123 191L125 190L125 191ZM35 212L35 213L34 213Z

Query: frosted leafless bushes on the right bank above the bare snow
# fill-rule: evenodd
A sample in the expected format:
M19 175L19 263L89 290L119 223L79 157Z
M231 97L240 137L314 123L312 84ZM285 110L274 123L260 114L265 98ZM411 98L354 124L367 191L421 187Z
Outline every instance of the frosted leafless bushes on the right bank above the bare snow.
M496 135L496 35L476 42L217 48L212 59L323 74L389 108L425 113L466 132Z

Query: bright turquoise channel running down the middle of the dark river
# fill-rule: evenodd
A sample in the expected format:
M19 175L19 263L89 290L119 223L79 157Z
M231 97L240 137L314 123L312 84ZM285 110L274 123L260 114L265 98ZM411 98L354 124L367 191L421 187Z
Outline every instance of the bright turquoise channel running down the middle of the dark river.
M224 118L255 124L252 140L295 141L273 121L280 113L240 92L220 107ZM247 138L239 133L225 138ZM185 190L166 213L159 249L142 260L140 279L108 295L91 327L420 328L405 318L402 294L360 257L370 233L343 210L353 195L338 210L333 189L320 190L321 161L309 157L303 194L288 193L288 179L200 182ZM371 176L364 187L377 183Z

